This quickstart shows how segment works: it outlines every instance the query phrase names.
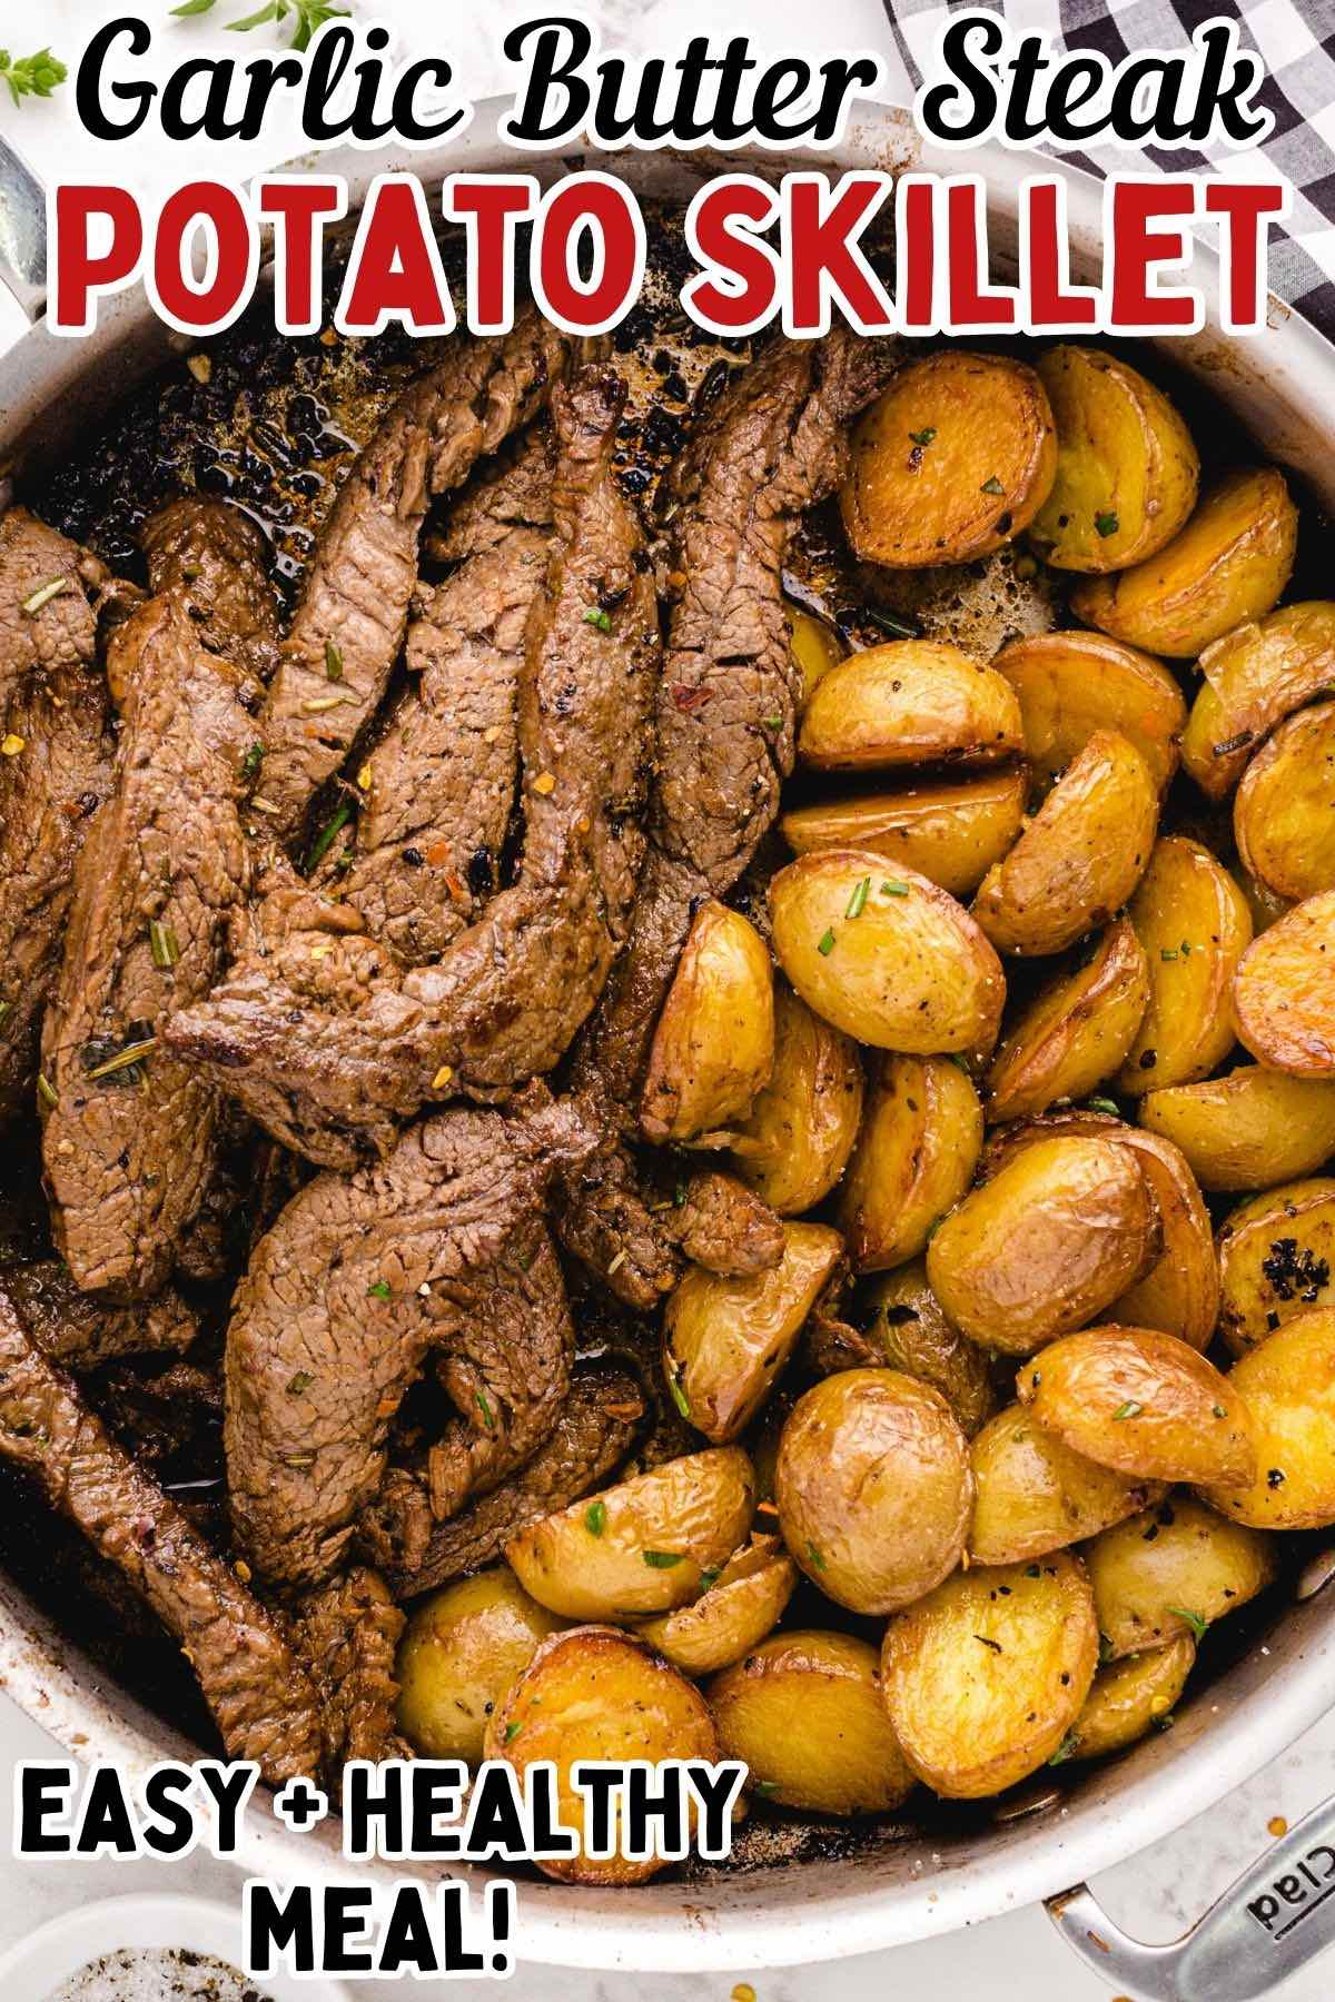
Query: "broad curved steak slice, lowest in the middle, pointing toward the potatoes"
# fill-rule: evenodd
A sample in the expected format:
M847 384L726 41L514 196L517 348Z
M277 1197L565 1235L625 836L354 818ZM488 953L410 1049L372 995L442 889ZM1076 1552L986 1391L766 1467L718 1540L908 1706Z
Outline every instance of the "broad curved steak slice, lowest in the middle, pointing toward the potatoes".
M266 1578L336 1570L400 1397L456 1331L452 1289L582 1153L578 1119L540 1097L514 1119L440 1113L384 1163L318 1175L256 1245L226 1341L226 1459L236 1538Z

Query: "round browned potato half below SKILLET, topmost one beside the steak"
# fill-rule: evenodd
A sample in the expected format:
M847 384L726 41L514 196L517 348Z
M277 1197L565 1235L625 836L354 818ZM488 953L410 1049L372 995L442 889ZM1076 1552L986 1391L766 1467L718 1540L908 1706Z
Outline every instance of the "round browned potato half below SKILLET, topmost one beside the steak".
M859 557L893 569L969 563L1029 527L1055 470L1033 368L943 348L901 368L855 428L845 531Z

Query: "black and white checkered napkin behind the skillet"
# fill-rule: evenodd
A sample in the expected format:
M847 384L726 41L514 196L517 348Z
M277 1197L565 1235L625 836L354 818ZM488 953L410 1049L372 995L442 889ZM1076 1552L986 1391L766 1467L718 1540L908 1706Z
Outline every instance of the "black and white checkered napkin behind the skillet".
M953 12L977 0L883 0L899 54L923 80ZM1047 32L1053 48L1097 50L1121 62L1135 50L1183 48L1193 28L1233 16L1267 76L1257 102L1275 114L1259 148L1101 146L1065 158L1095 174L1219 172L1289 182L1291 214L1271 230L1271 290L1335 340L1335 0L985 0L1017 34Z

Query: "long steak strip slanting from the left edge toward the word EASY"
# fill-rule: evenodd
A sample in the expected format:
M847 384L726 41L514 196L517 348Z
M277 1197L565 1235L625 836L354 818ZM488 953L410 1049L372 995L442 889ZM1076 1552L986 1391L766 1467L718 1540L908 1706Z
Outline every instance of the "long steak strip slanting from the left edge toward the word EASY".
M272 1784L320 1764L316 1692L256 1598L110 1441L0 1287L0 1453L38 1481L180 1642L228 1758Z

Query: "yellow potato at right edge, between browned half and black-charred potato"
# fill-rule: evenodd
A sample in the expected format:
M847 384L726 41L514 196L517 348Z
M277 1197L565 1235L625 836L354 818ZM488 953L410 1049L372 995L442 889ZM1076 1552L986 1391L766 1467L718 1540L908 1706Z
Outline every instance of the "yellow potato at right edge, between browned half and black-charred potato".
M1335 1153L1335 1081L1245 1063L1141 1099L1141 1123L1185 1153L1203 1189L1269 1189Z

